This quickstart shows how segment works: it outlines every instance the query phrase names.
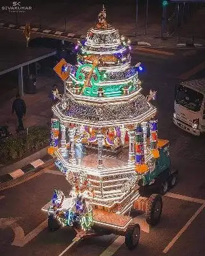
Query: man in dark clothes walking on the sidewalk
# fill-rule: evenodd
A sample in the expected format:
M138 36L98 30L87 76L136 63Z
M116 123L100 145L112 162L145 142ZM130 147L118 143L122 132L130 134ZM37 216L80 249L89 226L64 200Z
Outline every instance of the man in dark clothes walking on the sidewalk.
M18 129L17 132L24 130L24 124L22 121L23 115L26 115L26 104L23 99L20 98L20 95L17 94L15 100L13 101L12 105L12 114L15 112L15 114L18 117Z

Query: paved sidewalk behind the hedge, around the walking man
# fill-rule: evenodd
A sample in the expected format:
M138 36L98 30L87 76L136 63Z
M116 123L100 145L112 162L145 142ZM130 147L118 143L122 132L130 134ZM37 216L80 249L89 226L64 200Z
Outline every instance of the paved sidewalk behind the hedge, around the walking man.
M44 126L51 122L51 103L48 95L53 84L56 83L59 87L63 84L60 79L55 76L37 76L37 94L24 94L26 103L26 116L24 117L24 128L31 126ZM14 98L13 98L14 99ZM6 124L9 131L16 133L17 118L12 112L13 99L4 101L0 108L0 124Z

